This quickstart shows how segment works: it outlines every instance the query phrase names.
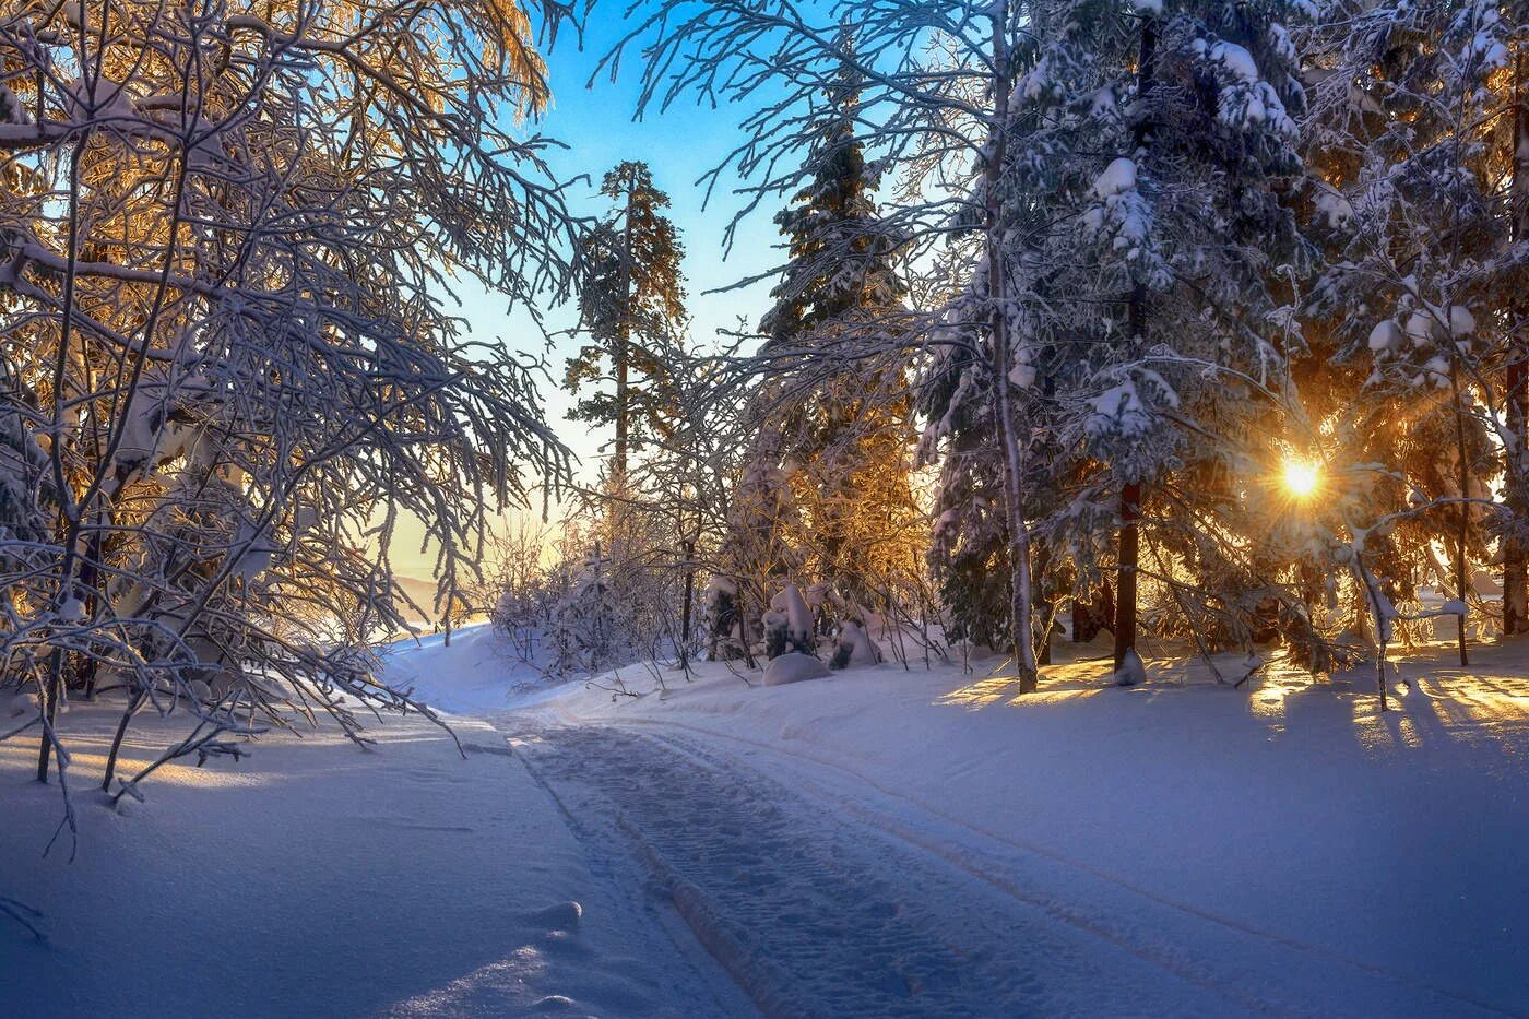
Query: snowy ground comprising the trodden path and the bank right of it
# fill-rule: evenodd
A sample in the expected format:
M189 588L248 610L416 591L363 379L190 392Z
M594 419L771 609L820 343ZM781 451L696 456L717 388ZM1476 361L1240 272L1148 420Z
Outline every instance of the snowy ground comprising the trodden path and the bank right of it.
M1368 672L1121 690L1086 659L1023 699L982 667L631 667L498 725L783 1011L1529 1013L1526 652L1414 655L1384 716Z

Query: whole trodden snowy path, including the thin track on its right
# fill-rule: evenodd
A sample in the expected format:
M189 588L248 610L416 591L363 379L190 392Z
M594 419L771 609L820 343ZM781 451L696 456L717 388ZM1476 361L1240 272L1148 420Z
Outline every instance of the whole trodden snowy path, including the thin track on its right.
M823 762L671 725L547 727L512 742L581 838L625 842L650 863L769 1014L1053 1014L1081 1002L1092 1014L1310 1014L1335 1002L1492 1014L960 826Z

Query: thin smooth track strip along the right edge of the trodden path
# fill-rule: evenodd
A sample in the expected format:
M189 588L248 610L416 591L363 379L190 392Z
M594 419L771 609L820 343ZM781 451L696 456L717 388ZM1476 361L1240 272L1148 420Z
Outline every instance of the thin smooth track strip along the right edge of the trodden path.
M1492 1002L1413 979L1384 965L1176 901L1064 854L969 826L821 756L667 719L628 719L625 724L641 727L650 739L668 744L688 756L713 762L720 760L717 742L746 748L748 753L761 751L774 765L792 773L792 788L798 793L816 799L830 809L853 814L881 834L917 846L1009 898L1043 909L1061 923L1110 941L1185 981L1238 999L1252 1010L1298 1014L1335 1011L1430 1016L1518 1014ZM680 736L673 730L685 730L702 739ZM807 762L852 779L873 791L876 797L894 803L896 808L872 806L864 791L849 796L829 788ZM908 823L905 817L899 817L908 812L917 816L919 822ZM1075 875L1061 875L1055 883L1067 887L1067 894L1058 894L1055 886L1038 884L1034 880L1037 864L1041 864L1041 871L1053 871L1052 877L1060 871L1073 871ZM1026 881L1021 875L1031 880ZM1096 887L1079 895L1078 877ZM1081 901L1084 898L1089 901ZM1112 898L1115 901L1109 901ZM1208 942L1205 930L1197 932L1194 927L1220 929L1216 935L1219 941ZM1209 952L1206 952L1208 944L1212 946Z

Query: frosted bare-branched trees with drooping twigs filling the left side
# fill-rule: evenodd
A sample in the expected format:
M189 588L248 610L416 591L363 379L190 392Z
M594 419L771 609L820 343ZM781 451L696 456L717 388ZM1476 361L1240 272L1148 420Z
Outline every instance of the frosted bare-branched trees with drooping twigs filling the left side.
M419 707L365 652L410 614L396 522L451 601L494 506L566 470L442 275L567 288L578 220L512 127L544 73L514 3L0 12L0 682L40 696L40 777L90 692L125 690L119 734L188 711L171 756Z

